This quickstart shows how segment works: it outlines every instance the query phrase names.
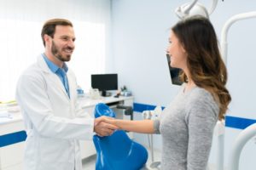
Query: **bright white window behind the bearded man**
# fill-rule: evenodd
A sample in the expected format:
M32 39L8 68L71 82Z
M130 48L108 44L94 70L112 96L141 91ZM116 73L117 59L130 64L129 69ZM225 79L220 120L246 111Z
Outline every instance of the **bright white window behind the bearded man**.
M89 89L90 75L105 70L110 3L110 0L1 1L0 101L15 99L20 73L36 61L38 54L44 53L41 29L44 21L52 18L73 22L76 49L67 65L75 72L79 85Z

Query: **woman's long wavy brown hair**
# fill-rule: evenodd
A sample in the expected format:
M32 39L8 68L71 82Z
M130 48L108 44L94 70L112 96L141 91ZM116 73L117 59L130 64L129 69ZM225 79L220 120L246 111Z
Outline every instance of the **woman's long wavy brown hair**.
M191 79L196 86L205 88L212 94L220 109L218 120L223 120L231 96L225 87L227 70L210 20L201 16L190 17L178 22L172 27L172 31L188 54L187 65ZM188 82L184 72L181 80Z

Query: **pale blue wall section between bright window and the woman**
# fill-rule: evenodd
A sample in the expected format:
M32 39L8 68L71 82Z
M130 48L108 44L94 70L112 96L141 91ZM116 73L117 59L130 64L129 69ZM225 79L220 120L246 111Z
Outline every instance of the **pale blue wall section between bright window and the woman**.
M171 8L172 1L113 0L115 69L138 103L167 105L176 94L166 63L168 29L177 20Z

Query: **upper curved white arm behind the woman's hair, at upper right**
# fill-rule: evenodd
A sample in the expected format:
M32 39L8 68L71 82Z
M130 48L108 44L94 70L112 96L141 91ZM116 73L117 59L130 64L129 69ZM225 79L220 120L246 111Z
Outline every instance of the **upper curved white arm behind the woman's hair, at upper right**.
M248 13L241 13L241 14L236 14L232 16L229 20L227 20L224 24L224 27L221 31L221 51L222 51L222 57L224 59L224 63L227 63L227 48L228 48L228 42L227 42L227 37L228 37L228 31L230 29L230 26L235 23L237 20L245 20L245 19L250 19L250 18L255 18L256 17L256 11L248 12Z

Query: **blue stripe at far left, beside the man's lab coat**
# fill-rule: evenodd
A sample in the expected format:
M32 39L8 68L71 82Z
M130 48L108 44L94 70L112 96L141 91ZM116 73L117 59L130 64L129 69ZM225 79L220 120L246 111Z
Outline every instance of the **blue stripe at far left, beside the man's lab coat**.
M16 144L26 140L26 132L20 131L16 133L9 133L0 136L0 147L7 146L10 144Z

